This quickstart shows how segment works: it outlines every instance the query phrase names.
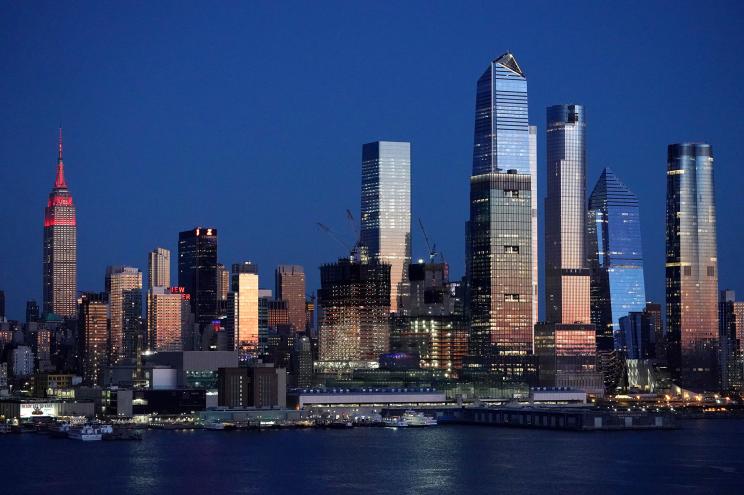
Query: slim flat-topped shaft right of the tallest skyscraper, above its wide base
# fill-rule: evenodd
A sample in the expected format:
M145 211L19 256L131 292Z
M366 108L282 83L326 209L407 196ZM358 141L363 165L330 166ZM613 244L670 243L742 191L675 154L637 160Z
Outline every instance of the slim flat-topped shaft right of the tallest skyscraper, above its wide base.
M554 323L590 323L589 270L584 249L584 109L581 105L548 107L547 120L546 318Z

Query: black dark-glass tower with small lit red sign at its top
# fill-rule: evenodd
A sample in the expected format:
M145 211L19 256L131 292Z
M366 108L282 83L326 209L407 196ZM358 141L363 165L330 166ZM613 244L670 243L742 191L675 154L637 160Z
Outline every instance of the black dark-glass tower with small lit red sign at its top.
M178 234L178 285L191 295L191 312L204 332L217 317L217 229Z

